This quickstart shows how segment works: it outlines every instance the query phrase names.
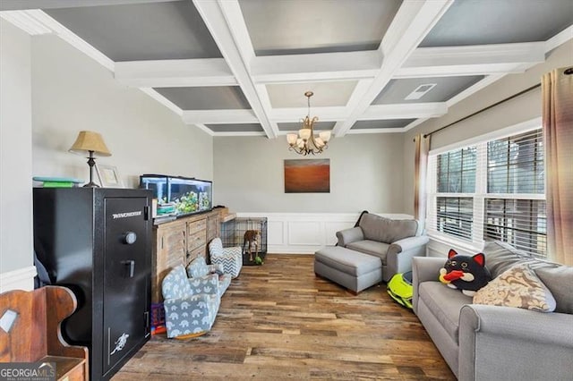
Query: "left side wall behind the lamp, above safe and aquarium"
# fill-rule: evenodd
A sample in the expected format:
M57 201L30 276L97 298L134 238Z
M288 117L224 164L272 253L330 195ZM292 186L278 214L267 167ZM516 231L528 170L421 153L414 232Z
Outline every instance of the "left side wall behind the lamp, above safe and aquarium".
M140 174L213 177L210 135L141 90L120 85L62 39L32 38L33 174L87 182L87 160L68 152L81 130L102 134L112 156L96 161L115 165L127 187L137 187Z

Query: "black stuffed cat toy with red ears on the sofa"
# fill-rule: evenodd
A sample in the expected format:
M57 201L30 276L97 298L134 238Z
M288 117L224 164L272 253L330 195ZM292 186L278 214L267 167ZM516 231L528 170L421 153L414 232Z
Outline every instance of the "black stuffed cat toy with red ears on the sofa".
M467 296L474 296L491 279L483 253L469 257L450 249L446 265L440 268L440 282L461 290Z

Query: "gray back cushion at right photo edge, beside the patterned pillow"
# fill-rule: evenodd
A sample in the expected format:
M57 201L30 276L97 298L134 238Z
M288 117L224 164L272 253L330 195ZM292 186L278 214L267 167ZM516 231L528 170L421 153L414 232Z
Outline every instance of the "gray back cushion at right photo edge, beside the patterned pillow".
M555 312L573 314L573 267L541 267L535 269L535 274L552 292L557 302Z

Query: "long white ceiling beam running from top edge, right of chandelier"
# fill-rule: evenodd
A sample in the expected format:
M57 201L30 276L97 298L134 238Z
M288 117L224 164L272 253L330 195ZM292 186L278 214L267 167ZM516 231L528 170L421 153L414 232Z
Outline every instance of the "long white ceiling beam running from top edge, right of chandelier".
M452 3L453 0L405 0L400 5L379 47L384 57L381 71L348 118L335 125L335 136L344 136L352 128Z

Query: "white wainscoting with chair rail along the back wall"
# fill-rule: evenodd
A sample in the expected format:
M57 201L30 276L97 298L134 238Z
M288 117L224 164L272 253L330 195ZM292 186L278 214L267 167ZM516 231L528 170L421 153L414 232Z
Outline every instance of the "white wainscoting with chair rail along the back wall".
M404 214L375 213L394 219ZM273 254L314 254L337 243L339 230L353 227L360 213L237 213L238 217L267 217L267 251Z

